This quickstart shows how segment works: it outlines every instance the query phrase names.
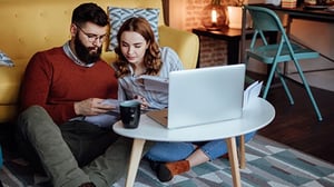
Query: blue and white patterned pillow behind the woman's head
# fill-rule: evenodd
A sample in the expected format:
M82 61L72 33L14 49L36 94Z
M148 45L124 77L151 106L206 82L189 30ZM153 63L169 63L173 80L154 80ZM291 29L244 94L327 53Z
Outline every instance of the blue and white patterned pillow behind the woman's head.
M112 51L117 47L117 32L120 26L131 17L143 17L147 19L153 28L156 40L159 41L159 35L158 35L159 9L154 9L154 8L129 9L129 8L108 7L108 13L110 20L109 50Z

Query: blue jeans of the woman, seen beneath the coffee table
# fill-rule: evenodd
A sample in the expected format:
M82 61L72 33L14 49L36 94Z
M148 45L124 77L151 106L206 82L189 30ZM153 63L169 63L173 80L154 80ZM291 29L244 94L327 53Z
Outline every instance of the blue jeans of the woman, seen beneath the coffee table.
M249 141L255 135L249 132L245 135L245 142ZM239 138L237 137L237 146ZM146 154L146 158L154 161L178 161L189 157L197 148L202 149L210 160L214 160L227 152L225 139L202 142L156 142Z

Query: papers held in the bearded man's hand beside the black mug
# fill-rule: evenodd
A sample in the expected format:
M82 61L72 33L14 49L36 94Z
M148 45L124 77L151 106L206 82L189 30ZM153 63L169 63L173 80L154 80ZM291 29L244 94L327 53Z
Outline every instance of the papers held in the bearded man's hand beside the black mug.
M112 105L116 108L102 115L97 116L84 116L84 117L76 117L70 120L85 120L97 125L104 128L110 128L116 121L119 120L119 104L120 101L117 99L106 99L102 101L105 105Z

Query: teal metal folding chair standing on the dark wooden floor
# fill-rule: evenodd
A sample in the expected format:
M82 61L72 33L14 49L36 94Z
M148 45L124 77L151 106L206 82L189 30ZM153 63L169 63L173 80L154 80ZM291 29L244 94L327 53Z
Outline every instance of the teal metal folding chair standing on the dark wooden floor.
M266 99L272 81L275 75L277 75L291 105L294 105L294 99L284 80L284 75L282 73L281 67L278 66L278 63L293 61L303 81L303 86L306 89L313 108L316 112L317 119L322 121L322 114L312 95L312 91L303 73L301 65L298 63L298 60L301 59L318 58L318 52L304 48L297 43L292 43L288 37L286 36L285 29L282 26L279 18L273 10L256 6L244 6L244 8L246 9L246 11L249 12L252 17L253 29L255 31L250 41L250 47L246 50L246 63L249 61L249 58L253 58L266 65L271 65L269 75L267 77L267 81L263 90L263 98ZM264 36L264 31L277 31L279 36L278 42L269 45ZM258 45L258 42L256 43L258 36L263 41L262 45Z

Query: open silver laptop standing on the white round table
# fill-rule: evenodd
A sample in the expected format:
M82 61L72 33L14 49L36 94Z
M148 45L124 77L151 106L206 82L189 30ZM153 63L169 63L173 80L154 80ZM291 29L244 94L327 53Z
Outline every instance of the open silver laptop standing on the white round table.
M173 71L168 110L147 116L170 129L240 118L244 80L243 63Z

